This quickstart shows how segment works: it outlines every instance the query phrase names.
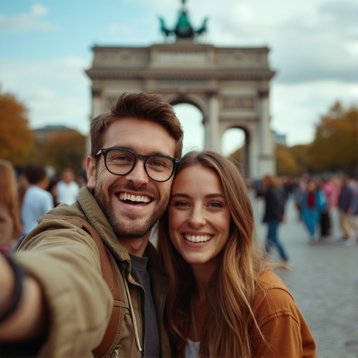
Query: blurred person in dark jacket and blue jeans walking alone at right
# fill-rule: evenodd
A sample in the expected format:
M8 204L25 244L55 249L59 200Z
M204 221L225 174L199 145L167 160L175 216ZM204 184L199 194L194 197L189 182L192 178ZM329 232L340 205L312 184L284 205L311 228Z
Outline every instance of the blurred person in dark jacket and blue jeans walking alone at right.
M278 229L280 223L285 220L285 190L277 176L266 175L262 178L262 185L257 193L265 199L265 210L262 222L267 224L267 236L265 249L268 254L273 248L278 250L282 263L288 266L288 256L280 238Z

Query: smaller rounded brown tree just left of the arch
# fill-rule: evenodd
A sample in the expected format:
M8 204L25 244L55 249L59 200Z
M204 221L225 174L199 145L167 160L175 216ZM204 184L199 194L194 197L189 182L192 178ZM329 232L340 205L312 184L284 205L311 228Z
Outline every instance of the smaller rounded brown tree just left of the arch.
M64 168L72 168L77 175L83 173L86 137L78 131L70 130L51 136L38 150L38 160L52 166L57 173Z

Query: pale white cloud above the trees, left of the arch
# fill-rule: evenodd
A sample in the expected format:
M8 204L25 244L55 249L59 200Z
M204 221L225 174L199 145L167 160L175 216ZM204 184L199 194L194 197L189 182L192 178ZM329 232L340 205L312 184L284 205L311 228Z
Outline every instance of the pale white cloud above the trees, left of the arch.
M90 79L87 59L45 62L0 59L1 92L15 94L29 109L31 128L64 124L90 131Z

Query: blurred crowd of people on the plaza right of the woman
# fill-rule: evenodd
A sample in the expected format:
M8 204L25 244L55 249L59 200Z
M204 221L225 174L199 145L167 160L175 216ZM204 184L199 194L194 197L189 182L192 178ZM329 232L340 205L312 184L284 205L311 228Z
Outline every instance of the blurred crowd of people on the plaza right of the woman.
M306 229L308 244L320 241L339 245L355 245L358 241L358 179L350 174L315 178L304 173L299 178L278 178L266 175L258 183L247 180L248 189L264 199L262 222L267 226L264 247L268 255L273 248L284 266L290 266L289 255L279 237L281 222L285 222L288 199L294 201L297 217ZM333 215L338 215L339 227L333 230ZM341 232L340 236L334 233Z

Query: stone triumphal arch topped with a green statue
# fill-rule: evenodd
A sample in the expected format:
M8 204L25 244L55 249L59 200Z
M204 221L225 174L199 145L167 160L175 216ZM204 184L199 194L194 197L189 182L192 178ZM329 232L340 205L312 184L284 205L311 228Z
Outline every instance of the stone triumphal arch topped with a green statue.
M186 16L182 3L181 15ZM92 80L92 118L106 112L122 92L163 94L171 104L199 108L206 148L220 150L224 131L243 129L245 175L259 179L274 173L268 100L274 72L268 65L269 49L219 48L196 41L192 29L185 36L164 26L162 21L162 31L167 36L175 32L175 41L93 48L92 68L86 71ZM200 31L205 31L205 22Z

